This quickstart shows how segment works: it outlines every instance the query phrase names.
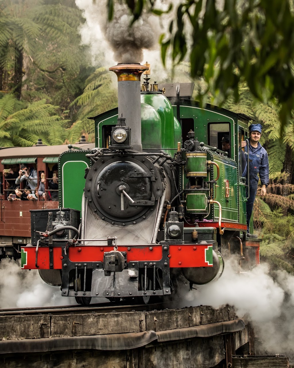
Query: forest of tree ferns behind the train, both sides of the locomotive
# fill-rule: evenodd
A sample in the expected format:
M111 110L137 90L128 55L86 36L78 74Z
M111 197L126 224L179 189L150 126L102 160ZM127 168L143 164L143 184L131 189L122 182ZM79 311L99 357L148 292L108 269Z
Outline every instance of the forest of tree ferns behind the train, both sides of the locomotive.
M32 146L38 138L47 145L75 143L82 134L94 142L93 120L87 117L116 107L117 95L103 50L93 58L90 47L82 45L79 26L84 22L74 0L0 0L1 147ZM191 60L183 55L160 82L193 81L195 99L203 102L205 95L204 102L217 102L214 92L203 93L205 78L192 78L190 71ZM261 102L251 89L240 78L238 103L232 91L222 106L263 125L270 185L254 206L255 229L263 238L260 254L294 273L293 115L282 130L281 104Z

